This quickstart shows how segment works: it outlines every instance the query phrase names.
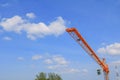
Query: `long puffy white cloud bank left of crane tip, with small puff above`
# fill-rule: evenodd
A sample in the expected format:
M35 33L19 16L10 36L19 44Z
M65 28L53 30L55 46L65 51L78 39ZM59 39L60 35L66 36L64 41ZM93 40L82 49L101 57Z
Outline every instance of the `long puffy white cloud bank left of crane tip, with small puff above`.
M27 17L33 18L33 13L27 13ZM32 23L28 19L23 19L21 16L13 16L12 18L3 18L0 22L0 26L9 32L22 33L25 32L27 37L35 40L48 35L59 36L65 32L65 21L62 17L57 19L48 25L44 22Z

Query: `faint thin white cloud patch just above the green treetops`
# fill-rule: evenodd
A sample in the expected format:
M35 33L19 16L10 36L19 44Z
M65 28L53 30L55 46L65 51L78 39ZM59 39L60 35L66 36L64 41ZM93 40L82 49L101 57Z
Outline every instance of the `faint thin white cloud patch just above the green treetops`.
M60 73L78 73L79 69L71 68L70 62L60 55L51 56L51 58L44 61L49 70L55 70Z

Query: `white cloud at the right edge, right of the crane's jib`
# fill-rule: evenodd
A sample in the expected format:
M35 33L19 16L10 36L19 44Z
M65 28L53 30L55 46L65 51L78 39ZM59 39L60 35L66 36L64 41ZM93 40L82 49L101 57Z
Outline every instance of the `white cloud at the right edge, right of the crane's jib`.
M98 53L105 53L111 55L120 55L120 43L114 43L105 47L99 48Z

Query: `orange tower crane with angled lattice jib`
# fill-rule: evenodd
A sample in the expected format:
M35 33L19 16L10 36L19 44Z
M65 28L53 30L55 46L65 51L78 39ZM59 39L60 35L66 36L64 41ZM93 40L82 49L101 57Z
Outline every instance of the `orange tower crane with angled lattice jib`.
M96 55L93 49L88 45L85 39L81 36L81 34L77 31L76 28L67 28L66 31L71 35L71 37L79 44L81 47L102 67L105 80L109 80L109 67L105 63L105 58L100 60L100 58Z

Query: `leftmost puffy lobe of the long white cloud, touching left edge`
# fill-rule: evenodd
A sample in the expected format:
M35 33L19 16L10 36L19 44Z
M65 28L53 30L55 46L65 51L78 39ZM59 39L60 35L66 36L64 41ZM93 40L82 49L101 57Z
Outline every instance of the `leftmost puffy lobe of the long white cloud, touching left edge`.
M12 18L3 18L0 22L0 26L3 27L6 31L13 31L16 33L20 33L23 29L23 25L25 21L20 16L14 16Z

